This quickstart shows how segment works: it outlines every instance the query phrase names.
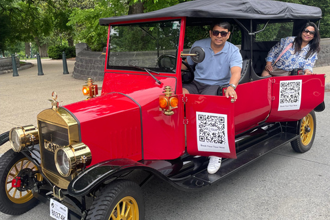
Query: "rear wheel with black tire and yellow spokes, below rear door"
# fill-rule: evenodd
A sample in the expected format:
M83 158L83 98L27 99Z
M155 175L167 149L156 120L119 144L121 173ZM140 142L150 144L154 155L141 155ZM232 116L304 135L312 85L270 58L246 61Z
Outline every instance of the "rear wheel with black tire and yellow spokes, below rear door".
M300 137L291 142L294 151L305 153L313 145L316 134L316 115L314 110L302 118L298 124Z

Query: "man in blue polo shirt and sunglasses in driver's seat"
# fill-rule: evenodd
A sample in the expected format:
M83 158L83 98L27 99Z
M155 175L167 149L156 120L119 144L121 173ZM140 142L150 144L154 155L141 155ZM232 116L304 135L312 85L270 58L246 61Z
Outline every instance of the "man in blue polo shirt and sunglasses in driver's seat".
M196 41L192 47L202 47L205 51L203 62L195 64L190 56L186 61L195 65L195 79L184 84L184 94L204 94L217 96L219 86L229 83L225 97L237 99L236 86L241 78L242 56L239 48L227 42L230 36L230 23L214 23L210 28L210 38ZM187 69L184 65L182 69ZM210 157L208 173L217 173L221 166L221 157Z

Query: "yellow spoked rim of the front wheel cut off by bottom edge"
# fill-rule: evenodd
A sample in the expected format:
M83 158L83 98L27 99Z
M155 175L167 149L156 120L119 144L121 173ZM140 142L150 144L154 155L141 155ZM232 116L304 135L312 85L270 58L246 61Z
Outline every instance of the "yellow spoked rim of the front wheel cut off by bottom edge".
M109 220L139 220L139 208L133 197L124 197L113 208Z

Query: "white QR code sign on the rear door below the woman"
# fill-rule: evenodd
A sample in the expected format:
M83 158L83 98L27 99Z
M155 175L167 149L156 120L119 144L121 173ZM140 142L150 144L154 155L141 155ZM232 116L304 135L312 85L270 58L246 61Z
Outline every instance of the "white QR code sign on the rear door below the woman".
M300 109L302 80L280 81L278 111Z

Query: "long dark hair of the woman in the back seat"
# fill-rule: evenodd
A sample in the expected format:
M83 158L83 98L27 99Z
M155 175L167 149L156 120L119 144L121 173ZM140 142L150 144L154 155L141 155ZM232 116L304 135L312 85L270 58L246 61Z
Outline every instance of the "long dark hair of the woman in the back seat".
M301 44L303 43L303 39L301 38L301 35L303 34L303 30L305 30L305 28L309 26L314 28L315 34L314 34L314 38L311 39L311 41L309 41L309 51L306 54L305 57L306 59L309 58L311 54L318 53L321 50L320 32L318 32L318 27L316 26L315 23L313 22L306 23L305 27L300 30L298 36L296 37L296 39L294 39L294 45L292 46L294 47L294 52L298 52L301 50Z

